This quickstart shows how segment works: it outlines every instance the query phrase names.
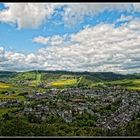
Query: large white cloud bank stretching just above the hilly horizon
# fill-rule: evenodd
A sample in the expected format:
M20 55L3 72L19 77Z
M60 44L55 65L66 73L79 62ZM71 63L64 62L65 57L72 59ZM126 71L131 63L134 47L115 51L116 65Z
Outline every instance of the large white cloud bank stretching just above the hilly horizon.
M42 40L49 38L49 41L40 39L36 42L49 43L50 47L47 45L27 55L0 48L0 55L6 60L0 62L0 69L139 72L138 22L138 19L133 19L119 27L99 24L69 36L40 36ZM66 43L67 37L71 44Z

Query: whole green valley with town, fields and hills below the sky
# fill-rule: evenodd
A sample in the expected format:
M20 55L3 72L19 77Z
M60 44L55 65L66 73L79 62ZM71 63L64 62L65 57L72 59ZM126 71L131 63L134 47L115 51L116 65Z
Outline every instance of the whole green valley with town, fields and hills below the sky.
M0 135L139 135L139 101L139 74L0 72Z

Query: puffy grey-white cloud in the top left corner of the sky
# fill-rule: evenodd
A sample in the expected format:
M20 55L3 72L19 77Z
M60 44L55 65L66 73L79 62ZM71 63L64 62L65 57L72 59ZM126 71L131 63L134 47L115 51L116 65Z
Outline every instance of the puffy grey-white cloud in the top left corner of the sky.
M54 6L43 3L6 3L0 21L17 23L18 28L36 28L53 14Z

